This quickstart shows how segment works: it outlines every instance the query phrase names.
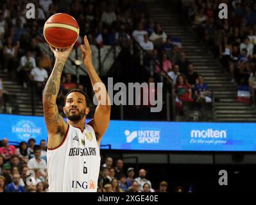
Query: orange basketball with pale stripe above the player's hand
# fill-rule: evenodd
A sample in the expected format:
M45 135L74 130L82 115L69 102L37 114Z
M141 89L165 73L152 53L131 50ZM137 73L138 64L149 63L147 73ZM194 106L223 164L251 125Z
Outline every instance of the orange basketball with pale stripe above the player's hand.
M44 24L44 38L57 49L65 49L78 40L79 26L67 13L56 13Z

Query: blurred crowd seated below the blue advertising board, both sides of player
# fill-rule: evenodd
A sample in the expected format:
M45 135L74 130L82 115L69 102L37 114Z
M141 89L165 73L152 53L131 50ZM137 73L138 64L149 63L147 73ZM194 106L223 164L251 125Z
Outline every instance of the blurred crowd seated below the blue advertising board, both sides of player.
M36 145L35 139L10 145L7 138L0 145L0 192L47 192L47 145ZM151 182L144 168L124 168L121 159L103 157L98 180L98 192L169 192L168 183ZM135 177L137 176L137 177ZM154 185L154 186L153 186ZM176 192L183 192L179 186Z

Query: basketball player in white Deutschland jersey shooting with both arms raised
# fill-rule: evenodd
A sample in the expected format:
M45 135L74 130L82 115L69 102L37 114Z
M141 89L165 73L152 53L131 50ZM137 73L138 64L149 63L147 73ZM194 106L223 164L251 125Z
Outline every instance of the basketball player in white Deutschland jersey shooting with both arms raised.
M56 51L55 65L49 77L43 94L44 120L46 122L47 142L47 172L49 192L96 192L100 155L101 138L107 130L110 121L110 100L105 85L101 82L92 65L92 51L87 37L81 45L83 63L87 68L92 86L99 85L101 94L107 99L100 101L96 108L94 119L85 124L89 113L87 95L78 89L71 90L65 97L63 111L67 123L58 113L56 97L60 88L60 76L65 61L73 49L73 45L66 51ZM94 90L96 93L96 90Z

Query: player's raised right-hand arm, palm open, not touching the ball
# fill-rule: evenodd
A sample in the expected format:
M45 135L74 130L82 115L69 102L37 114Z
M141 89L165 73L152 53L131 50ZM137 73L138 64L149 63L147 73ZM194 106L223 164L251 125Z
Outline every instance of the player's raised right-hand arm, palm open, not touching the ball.
M90 50L90 45L86 36L83 38L83 42L84 45L81 45L83 63L87 68L90 82L92 83L94 93L99 102L94 113L94 119L91 120L89 124L94 127L97 141L100 143L101 138L107 131L110 122L110 98L108 96L106 86L103 84L96 70L94 69L94 66L92 65L92 51Z

